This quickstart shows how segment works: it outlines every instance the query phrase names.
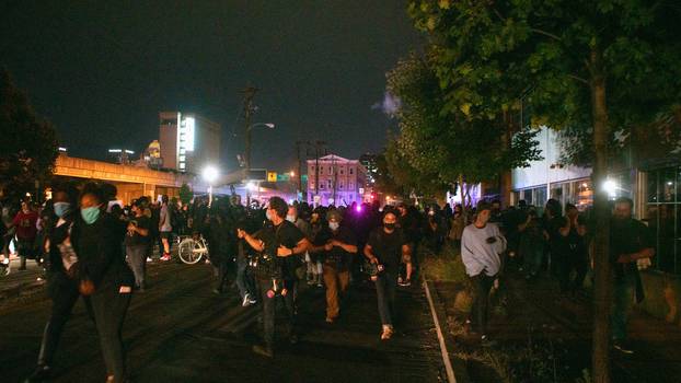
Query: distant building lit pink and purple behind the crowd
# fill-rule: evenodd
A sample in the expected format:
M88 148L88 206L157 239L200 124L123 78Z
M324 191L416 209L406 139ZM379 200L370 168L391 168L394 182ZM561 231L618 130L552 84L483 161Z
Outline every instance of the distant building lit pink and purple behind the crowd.
M308 160L309 204L360 204L366 183L367 169L358 160L328 154L319 159L319 169L316 160Z

